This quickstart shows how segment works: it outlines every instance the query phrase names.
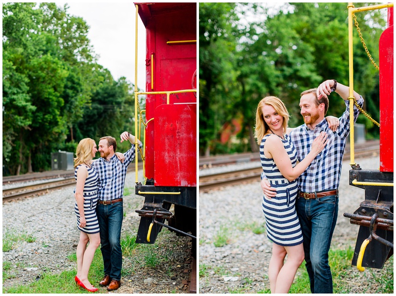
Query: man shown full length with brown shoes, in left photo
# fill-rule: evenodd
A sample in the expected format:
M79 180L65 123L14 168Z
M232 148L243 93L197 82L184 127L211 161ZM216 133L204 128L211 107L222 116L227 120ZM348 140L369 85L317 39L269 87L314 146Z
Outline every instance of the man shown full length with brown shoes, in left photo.
M103 256L104 278L100 286L107 286L108 291L117 290L121 286L121 225L123 219L123 194L126 171L135 158L135 136L128 131L121 135L121 142L129 140L131 149L124 153L123 163L114 154L117 149L115 138L100 138L100 158L93 162L99 174L97 215L100 233L100 251ZM138 140L139 141L139 140ZM139 147L142 142L139 141Z

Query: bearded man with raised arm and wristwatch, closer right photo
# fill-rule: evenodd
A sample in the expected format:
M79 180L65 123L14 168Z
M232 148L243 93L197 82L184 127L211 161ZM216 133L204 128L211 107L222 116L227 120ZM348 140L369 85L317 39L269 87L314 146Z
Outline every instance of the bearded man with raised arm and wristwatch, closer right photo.
M324 116L329 107L327 95L334 90L345 100L347 108L340 117L338 129L333 132ZM327 80L318 88L303 91L299 106L304 124L290 133L299 161L309 153L313 139L321 131L326 131L329 139L327 146L297 179L299 194L296 211L302 230L305 267L309 275L311 293L333 293L328 253L337 221L338 188L350 130L348 96L349 87L335 80ZM363 98L355 91L353 96L362 107ZM359 113L356 106L353 106L354 121ZM261 181L261 188L269 198L276 195L276 189L270 187L266 178Z

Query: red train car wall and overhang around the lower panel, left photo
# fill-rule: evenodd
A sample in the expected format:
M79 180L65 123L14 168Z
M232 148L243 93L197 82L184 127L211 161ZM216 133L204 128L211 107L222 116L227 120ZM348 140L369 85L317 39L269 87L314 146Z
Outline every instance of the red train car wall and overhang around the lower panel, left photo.
M146 91L191 89L197 69L197 44L167 44L167 41L197 40L197 3L136 3L146 27ZM153 68L153 73L151 73ZM151 84L153 78L153 84ZM197 102L193 93L170 95L170 104ZM154 161L157 119L156 108L166 104L166 95L147 95L146 120L154 118L146 128L146 177L154 178L161 169ZM173 112L169 107L169 112ZM157 148L159 149L159 148ZM162 153L162 152L160 152ZM196 147L194 147L196 153ZM155 180L157 182L157 180ZM196 183L196 181L195 181ZM164 185L170 186L170 185Z

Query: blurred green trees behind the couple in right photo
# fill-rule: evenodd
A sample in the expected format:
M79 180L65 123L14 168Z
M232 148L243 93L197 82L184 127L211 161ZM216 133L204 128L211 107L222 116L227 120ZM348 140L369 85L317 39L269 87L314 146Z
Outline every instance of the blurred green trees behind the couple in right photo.
M347 3L285 3L276 13L268 7L199 3L200 155L257 151L254 117L264 96L281 98L291 115L289 126L296 127L303 123L298 106L303 90L327 79L349 84ZM378 62L384 17L374 10L359 12L357 18ZM378 71L353 30L354 89L364 97L367 113L378 121ZM339 117L345 108L337 94L330 96L328 115ZM242 130L232 142L221 143L223 126L241 116ZM363 117L358 120L367 123ZM377 127L368 124L366 129L368 137L378 136Z

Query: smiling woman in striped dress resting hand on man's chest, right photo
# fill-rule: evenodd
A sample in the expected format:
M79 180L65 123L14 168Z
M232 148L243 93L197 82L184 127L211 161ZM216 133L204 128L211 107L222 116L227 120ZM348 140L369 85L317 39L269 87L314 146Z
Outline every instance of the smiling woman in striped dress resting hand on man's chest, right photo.
M289 112L275 96L263 98L256 111L255 137L260 145L261 165L277 195L263 197L267 237L273 242L268 267L271 293L288 293L298 267L304 260L302 233L295 202L296 178L326 146L327 134L321 132L311 151L297 164L296 149L287 134ZM286 254L288 259L284 263Z

